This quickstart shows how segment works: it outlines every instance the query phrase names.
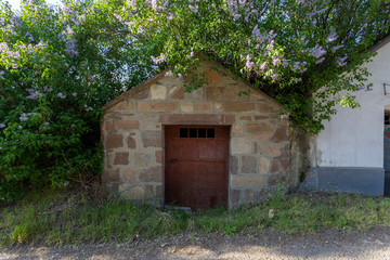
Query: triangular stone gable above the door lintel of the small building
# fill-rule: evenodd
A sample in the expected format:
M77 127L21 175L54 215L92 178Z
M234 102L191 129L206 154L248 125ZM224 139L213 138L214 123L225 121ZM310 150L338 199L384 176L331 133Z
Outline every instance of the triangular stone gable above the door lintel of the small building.
M164 105L167 110L171 110L177 107L174 104L158 104L158 102L180 100L205 102L213 101L221 102L221 104L217 104L217 106L220 105L220 109L222 110L229 110L229 107L231 106L233 106L231 109L234 110L236 106L240 106L240 108L236 107L239 112L239 109L249 109L250 106L253 106L255 104L239 105L229 104L226 102L264 101L271 102L274 106L278 107L278 109L282 109L282 106L273 99L263 92L253 89L248 82L236 79L237 77L233 73L213 61L206 61L202 63L199 75L205 75L206 83L202 88L193 90L191 93L185 92L185 79L167 77L165 76L167 70L161 72L155 77L108 102L103 106L103 110L125 109L123 103L121 102L131 100L154 101L155 106ZM202 107L206 106L205 104L197 104L197 109L206 109L206 107ZM141 104L141 110L143 109L148 109L148 105L146 103ZM161 109L164 110L164 108Z

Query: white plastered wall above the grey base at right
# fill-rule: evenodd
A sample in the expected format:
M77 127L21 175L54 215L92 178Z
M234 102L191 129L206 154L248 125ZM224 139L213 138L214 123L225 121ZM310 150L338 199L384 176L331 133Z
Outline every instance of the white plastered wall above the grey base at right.
M362 108L337 107L337 115L311 143L312 167L384 167L384 112L390 104L390 41L366 64L373 91L358 91ZM390 89L390 87L389 87Z

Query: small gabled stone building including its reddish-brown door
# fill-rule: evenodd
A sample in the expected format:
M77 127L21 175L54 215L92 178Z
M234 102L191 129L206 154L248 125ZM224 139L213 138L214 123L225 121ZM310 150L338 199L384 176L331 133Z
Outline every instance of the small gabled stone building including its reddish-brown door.
M200 70L206 84L191 93L162 72L103 107L102 178L112 192L158 205L233 208L290 184L282 107L216 62Z

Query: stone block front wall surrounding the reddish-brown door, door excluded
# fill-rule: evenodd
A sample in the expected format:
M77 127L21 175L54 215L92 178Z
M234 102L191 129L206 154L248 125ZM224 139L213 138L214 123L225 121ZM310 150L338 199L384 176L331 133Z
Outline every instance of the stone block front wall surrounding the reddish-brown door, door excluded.
M207 84L191 93L162 73L103 107L102 177L112 192L164 200L166 125L231 126L230 208L259 200L280 183L288 185L290 130L280 105L213 62L202 69Z

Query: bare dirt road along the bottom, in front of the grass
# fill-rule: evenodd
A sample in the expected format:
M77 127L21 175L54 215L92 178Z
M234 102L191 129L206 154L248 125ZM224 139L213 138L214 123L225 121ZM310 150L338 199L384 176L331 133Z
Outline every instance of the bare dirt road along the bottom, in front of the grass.
M182 233L122 244L60 248L17 246L0 259L380 259L390 260L390 227L360 232L327 230L306 235L273 231L244 236Z

